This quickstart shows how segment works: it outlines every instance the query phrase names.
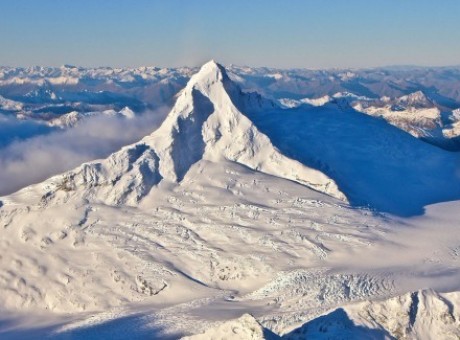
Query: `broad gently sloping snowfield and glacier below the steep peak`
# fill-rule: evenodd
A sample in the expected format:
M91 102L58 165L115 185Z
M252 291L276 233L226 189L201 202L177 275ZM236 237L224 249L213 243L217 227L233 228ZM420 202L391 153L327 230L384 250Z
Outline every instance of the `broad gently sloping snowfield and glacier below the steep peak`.
M430 293L433 302L425 302L412 292L460 289L458 204L430 208L426 217L413 220L388 220L338 208L311 191L303 196L292 182L264 182L263 174L239 170L231 171L239 179L235 184L247 200L244 204L231 204L237 197L222 195L223 183L210 190L203 180L195 183L195 196L181 188L164 200L157 197L161 205L153 208L155 213L99 210L92 218L100 214L107 222L94 223L90 217L75 246L73 233L67 245L61 240L43 249L37 244L41 235L12 243L21 247L22 255L3 252L2 264L21 261L22 270L9 269L17 275L10 282L25 282L10 286L10 296L26 295L33 283L46 299L28 293L30 304L21 308L28 311L25 316L12 313L11 306L4 314L8 323L2 336L175 339L248 312L264 329L287 338L299 332L319 339L455 334L459 293ZM219 172L207 173L214 185ZM285 188L281 196L273 196L281 198L270 208L273 193L267 185ZM203 204L204 192L220 204ZM34 258L46 267L45 273L32 270L38 265ZM32 298L40 303L34 306ZM127 304L129 300L143 303ZM426 307L430 304L434 307ZM120 308L112 309L115 305ZM36 315L44 306L54 306L61 316ZM434 326L428 332L424 325Z

